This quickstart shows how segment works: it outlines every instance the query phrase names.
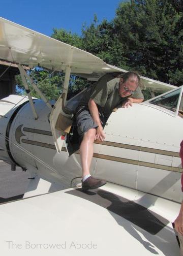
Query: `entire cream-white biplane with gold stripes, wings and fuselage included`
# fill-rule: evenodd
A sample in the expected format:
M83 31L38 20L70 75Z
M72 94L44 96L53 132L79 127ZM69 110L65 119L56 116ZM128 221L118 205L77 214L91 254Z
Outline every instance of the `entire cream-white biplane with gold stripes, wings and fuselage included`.
M84 192L79 151L69 151L58 127L59 118L61 126L72 120L83 93L67 101L70 76L97 81L127 71L3 18L0 59L16 63L26 91L0 100L0 159L30 174L24 198L0 205L3 254L178 255L171 222L182 198L183 86L141 77L151 97L112 112L91 168L107 184ZM27 72L36 66L65 74L56 102Z

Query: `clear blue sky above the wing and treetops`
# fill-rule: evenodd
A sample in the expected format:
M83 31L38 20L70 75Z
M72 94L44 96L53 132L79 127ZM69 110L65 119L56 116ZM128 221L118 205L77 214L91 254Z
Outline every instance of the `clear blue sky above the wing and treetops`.
M54 27L80 35L82 24L89 25L94 14L99 22L113 19L120 2L123 0L1 0L0 16L47 36Z

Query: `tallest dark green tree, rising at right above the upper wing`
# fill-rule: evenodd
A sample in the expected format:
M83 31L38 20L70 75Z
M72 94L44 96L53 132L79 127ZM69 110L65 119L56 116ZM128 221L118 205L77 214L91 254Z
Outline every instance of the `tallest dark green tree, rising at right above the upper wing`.
M169 1L121 3L114 27L126 42L127 66L144 76L182 83L182 12Z

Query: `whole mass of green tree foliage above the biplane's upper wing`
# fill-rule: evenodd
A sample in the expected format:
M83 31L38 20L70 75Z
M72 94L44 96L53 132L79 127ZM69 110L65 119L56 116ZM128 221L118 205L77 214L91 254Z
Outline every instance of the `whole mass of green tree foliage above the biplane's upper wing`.
M58 36L57 36L58 35ZM112 21L82 27L81 37L54 30L53 37L86 50L117 67L166 83L183 80L182 1L121 2Z

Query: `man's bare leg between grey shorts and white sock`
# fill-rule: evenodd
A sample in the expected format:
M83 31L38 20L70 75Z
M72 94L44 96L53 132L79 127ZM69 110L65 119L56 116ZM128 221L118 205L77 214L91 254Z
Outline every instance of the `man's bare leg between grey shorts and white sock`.
M89 174L89 169L94 154L95 137L96 129L89 129L86 133L84 133L83 140L80 145L82 178Z

